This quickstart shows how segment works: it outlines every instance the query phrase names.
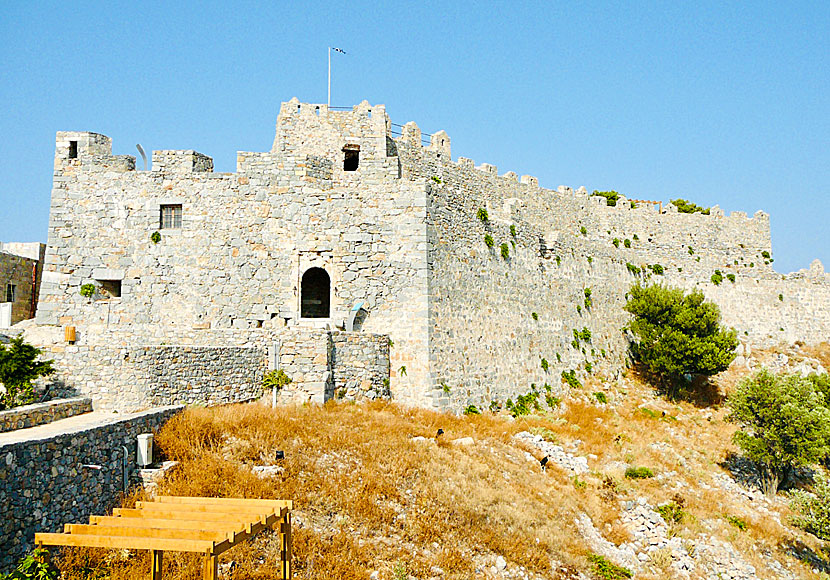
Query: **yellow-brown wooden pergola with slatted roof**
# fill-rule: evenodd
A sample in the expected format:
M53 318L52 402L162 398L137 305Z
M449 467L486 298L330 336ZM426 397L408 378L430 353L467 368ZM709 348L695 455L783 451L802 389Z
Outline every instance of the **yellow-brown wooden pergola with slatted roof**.
M287 500L160 496L112 516L90 516L89 524L66 524L62 534L35 534L35 544L149 550L152 580L161 579L164 552L194 552L204 555L204 580L216 580L220 554L278 526L280 578L288 580L292 507Z

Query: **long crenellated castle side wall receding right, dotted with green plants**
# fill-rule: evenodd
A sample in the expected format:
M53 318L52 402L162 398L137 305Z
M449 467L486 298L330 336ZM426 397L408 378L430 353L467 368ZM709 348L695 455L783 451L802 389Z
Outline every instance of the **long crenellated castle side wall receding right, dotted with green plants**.
M628 347L622 306L637 281L702 290L721 306L724 322L754 344L826 337L827 277L807 283L774 272L763 255L770 249L763 212L660 213L626 201L608 207L584 190L541 189L535 178L498 176L493 166L452 162L446 152L411 141L419 139L404 136L397 145L404 178L430 185L430 388L439 406L504 402L533 383L556 387L563 370L583 378L588 369L619 370ZM476 217L479 208L487 209L487 223ZM488 234L492 249L484 243ZM715 270L724 276L720 286L710 280ZM575 339L574 330L583 328L590 341Z

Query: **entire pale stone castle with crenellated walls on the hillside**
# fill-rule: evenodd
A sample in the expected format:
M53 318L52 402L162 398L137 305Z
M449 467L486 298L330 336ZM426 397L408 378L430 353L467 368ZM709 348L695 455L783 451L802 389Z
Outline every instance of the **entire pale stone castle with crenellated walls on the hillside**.
M584 188L453 161L383 105L283 103L269 152L216 173L193 150L112 155L59 132L30 340L57 390L100 408L391 396L487 407L625 364L622 310L650 278L702 290L744 344L826 340L820 263L782 276L769 218L607 206ZM718 271L719 284L712 278Z

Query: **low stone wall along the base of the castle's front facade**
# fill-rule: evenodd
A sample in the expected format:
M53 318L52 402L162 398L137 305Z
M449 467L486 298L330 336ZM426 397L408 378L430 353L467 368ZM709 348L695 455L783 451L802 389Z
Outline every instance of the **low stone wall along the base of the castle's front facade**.
M346 380L343 377L365 373L374 384L382 383L376 377L389 376L388 335L365 332L301 327L191 329L168 335L155 345L130 344L119 330L99 335L106 344L95 345L67 345L56 326L28 328L24 336L56 361L51 393L83 394L101 410L248 401L261 396L267 369L285 371L293 382L281 400L298 403L331 399L338 377ZM177 345L160 344L167 341ZM336 344L349 345L345 355ZM359 353L367 353L368 358L353 361ZM355 369L358 365L363 365L361 371Z

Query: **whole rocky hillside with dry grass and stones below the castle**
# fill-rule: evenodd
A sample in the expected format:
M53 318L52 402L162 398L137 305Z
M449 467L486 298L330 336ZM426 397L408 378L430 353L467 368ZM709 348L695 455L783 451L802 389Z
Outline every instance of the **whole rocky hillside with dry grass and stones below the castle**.
M761 365L821 371L828 352L743 352L696 403L629 373L557 377L511 402L532 411L518 418L384 403L193 408L156 439L180 462L159 491L293 499L297 578L826 578L821 543L789 525L786 496L767 499L737 455L721 396ZM135 578L145 558L59 561L64 578ZM264 534L220 568L276 578L277 559ZM165 566L169 578L199 574L185 556Z

